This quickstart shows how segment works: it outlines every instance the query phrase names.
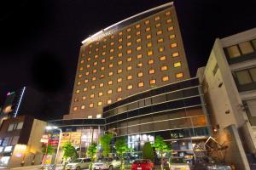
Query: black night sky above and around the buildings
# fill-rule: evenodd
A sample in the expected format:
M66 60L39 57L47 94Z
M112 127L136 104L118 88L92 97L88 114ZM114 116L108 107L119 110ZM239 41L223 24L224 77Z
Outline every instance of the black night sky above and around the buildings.
M81 41L167 0L19 0L0 3L0 105L9 91L31 86L68 113ZM216 37L256 27L256 1L177 0L191 76L206 65Z

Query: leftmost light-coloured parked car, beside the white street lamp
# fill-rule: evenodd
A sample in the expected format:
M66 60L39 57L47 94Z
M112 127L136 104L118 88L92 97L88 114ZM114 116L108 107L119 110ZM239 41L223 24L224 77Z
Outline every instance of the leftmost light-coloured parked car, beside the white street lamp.
M79 158L74 161L71 161L70 163L67 164L66 170L79 170L79 169L84 169L84 168L89 168L90 166L90 158Z

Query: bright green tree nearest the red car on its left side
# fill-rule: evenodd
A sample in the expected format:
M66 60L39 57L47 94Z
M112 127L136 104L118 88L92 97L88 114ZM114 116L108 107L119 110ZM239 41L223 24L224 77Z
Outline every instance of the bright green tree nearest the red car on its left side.
M128 151L131 151L131 149L126 144L125 138L117 139L114 143L114 147L117 155L121 160L121 169L125 169L125 167L123 166L124 154Z

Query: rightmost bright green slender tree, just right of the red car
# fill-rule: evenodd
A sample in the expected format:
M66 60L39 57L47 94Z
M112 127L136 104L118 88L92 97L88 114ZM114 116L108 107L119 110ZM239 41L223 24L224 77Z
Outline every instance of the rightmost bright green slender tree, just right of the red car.
M164 152L170 151L171 150L171 145L167 144L164 139L160 136L156 136L154 139L154 143L152 144L155 150L158 150L160 152L160 157L161 157L161 169L164 168L164 160L163 160L163 155Z

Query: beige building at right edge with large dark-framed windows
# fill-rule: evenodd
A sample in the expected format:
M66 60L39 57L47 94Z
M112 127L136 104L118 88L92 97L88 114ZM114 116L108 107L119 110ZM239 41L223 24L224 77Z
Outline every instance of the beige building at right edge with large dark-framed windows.
M244 156L256 153L256 132L253 130L256 125L255 39L255 28L223 39L217 38L206 67L197 72L216 135L235 125L244 153L239 152ZM246 159L242 161L247 162Z

